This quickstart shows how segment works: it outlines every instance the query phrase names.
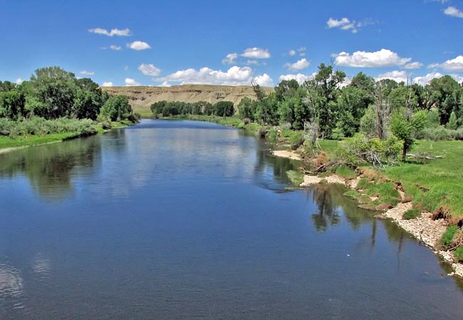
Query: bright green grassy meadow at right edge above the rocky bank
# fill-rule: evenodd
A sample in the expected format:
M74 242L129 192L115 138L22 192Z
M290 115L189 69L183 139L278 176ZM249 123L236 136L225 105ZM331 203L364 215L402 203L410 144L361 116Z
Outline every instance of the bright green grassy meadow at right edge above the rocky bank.
M388 167L385 176L402 182L415 206L430 212L442 208L453 223L463 219L463 142L418 141L412 153L444 158Z

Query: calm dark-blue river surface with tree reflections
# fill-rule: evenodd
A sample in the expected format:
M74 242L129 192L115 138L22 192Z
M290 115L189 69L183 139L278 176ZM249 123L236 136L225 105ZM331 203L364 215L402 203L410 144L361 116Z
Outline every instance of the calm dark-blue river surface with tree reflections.
M431 250L268 149L144 120L0 154L0 319L462 319Z

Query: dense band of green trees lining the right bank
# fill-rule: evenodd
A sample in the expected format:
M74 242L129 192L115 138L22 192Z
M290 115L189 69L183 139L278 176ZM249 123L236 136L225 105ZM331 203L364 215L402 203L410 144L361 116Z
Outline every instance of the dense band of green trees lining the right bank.
M449 75L424 87L377 81L364 73L347 80L343 71L322 63L318 73L301 85L283 80L269 95L259 85L253 87L256 100L244 98L237 106L241 119L283 129L316 124L322 138L333 138L335 132L344 137L363 132L368 138L385 140L395 134L405 142L406 153L416 137L452 139L459 137L463 126L462 85ZM432 137L430 129L438 129L438 136ZM442 134L442 130L447 131Z

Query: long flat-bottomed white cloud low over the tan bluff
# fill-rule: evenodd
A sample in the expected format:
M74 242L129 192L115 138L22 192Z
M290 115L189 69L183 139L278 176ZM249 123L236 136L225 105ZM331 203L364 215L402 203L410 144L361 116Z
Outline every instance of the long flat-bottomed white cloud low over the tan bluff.
M253 80L253 72L249 67L233 66L224 72L201 68L199 70L186 69L178 70L175 73L163 78L153 79L162 82L180 82L180 84L204 84L204 85L249 85Z

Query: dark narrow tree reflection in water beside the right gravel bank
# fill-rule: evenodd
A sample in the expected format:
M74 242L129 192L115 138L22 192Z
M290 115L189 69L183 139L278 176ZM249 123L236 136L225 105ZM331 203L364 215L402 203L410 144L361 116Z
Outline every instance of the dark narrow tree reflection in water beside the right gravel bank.
M313 202L318 206L318 213L312 215L317 231L325 231L328 229L328 225L340 223L340 215L333 203L330 189L330 186L317 186L312 189Z

